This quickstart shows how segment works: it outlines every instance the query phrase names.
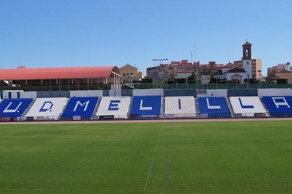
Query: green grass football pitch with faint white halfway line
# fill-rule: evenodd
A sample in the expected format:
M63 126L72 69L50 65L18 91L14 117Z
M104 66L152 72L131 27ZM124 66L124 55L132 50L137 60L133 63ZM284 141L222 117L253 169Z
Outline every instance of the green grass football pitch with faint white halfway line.
M0 193L292 193L292 121L0 125Z

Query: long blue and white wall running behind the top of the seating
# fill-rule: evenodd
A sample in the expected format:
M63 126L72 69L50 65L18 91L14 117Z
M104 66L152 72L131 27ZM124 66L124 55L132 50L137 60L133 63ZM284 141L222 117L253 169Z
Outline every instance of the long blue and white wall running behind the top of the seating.
M197 90L91 90L91 91L39 91L39 92L22 92L22 91L0 91L0 99L8 98L8 92L12 92L12 98L17 98L17 92L20 92L21 98L37 97L108 97L108 96L162 96L162 97L245 97L245 96L292 96L290 88L273 88L273 89L239 89L239 90L207 90L206 95L197 95Z

